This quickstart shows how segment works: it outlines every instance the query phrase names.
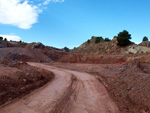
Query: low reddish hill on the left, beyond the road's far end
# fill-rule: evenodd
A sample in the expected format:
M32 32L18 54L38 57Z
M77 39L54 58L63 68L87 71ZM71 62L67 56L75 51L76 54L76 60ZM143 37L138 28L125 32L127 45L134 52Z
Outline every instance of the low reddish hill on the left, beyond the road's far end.
M21 60L32 62L57 61L67 53L63 49L45 46L42 43L25 43L22 41L0 41L1 60Z

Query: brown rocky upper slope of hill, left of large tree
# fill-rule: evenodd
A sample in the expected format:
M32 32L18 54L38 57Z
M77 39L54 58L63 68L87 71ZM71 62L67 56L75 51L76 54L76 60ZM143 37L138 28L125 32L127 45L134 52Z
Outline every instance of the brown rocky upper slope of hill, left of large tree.
M96 38L92 38L90 42L85 42L78 48L72 50L73 53L84 53L88 55L99 54L119 54L124 52L124 48L117 46L117 38L114 37L110 42L101 40L95 43Z

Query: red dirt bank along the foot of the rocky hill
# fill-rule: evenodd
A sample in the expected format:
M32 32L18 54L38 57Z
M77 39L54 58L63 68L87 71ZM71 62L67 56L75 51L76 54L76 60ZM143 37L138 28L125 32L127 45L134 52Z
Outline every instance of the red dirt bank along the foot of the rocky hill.
M126 61L125 56L121 55L96 55L90 56L88 54L69 54L64 55L58 60L63 63L94 63L94 64L114 64Z

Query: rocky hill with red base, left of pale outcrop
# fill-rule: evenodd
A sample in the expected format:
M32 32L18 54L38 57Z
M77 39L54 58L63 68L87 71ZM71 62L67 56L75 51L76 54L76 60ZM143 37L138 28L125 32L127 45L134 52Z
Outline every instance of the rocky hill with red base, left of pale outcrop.
M95 43L95 38L85 42L69 54L62 56L58 61L71 63L121 63L125 62L124 56L127 47L117 46L117 38L110 42L101 40Z

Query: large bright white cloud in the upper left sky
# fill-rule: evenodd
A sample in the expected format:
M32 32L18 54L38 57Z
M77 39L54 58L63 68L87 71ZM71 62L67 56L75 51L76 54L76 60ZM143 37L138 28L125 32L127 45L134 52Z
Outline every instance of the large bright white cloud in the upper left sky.
M64 0L45 0L43 3L33 5L33 0L0 0L0 23L29 29L38 22L42 5L49 2L63 2Z

